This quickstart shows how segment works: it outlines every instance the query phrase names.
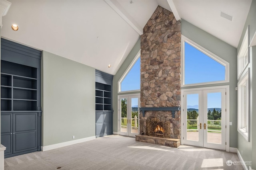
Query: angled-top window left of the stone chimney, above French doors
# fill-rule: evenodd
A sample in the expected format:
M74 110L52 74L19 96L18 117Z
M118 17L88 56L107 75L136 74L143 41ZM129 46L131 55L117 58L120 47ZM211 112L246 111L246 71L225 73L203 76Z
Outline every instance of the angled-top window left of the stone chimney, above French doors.
M120 79L120 92L140 90L140 57L134 61Z

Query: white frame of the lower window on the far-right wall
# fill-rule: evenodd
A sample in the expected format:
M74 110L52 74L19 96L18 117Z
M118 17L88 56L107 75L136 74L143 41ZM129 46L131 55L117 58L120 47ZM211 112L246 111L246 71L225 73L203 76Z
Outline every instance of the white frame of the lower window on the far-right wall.
M242 116L243 116L243 108L242 107L242 92L241 87L245 82L247 81L247 109L246 109L246 115L247 115L247 127L242 127ZM246 69L246 71L243 72L241 75L240 80L238 81L238 125L237 125L237 131L249 142L250 139L250 68Z

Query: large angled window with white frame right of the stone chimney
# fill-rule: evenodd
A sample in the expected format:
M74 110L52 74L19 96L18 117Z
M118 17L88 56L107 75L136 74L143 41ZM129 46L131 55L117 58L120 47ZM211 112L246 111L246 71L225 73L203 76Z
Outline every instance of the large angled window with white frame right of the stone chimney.
M182 36L183 86L228 82L228 62Z

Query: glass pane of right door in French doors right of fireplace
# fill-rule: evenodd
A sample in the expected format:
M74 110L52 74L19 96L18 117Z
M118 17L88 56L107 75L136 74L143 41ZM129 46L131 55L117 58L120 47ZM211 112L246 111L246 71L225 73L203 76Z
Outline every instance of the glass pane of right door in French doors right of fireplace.
M207 94L207 142L221 144L221 92Z

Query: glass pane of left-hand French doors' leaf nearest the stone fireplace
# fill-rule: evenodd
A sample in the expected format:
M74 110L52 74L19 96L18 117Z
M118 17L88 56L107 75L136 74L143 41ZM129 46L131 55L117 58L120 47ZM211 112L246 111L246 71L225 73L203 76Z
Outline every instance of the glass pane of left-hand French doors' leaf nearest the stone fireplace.
M139 127L139 117L138 117L138 98L132 98L131 104L131 111L132 111L132 119L131 119L131 133L138 134L138 127Z

